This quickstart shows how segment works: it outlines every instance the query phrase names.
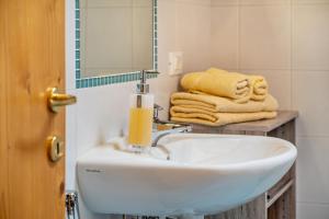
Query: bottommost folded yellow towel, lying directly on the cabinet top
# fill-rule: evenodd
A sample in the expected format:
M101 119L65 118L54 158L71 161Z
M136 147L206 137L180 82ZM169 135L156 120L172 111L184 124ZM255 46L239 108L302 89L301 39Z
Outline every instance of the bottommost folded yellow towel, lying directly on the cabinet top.
M276 117L276 112L257 112L257 113L213 113L207 111L190 113L189 108L173 106L170 108L171 120L180 123L192 123L207 126L222 126L232 123L243 123Z

